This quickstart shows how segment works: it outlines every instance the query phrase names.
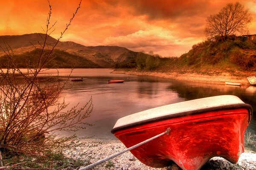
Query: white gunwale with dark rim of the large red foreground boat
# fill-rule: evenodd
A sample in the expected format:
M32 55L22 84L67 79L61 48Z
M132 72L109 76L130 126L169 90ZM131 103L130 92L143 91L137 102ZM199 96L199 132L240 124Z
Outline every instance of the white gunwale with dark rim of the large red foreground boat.
M221 101L220 101L221 100ZM203 102L204 101L204 102ZM214 102L212 104L212 102ZM196 105L198 104L198 105ZM189 107L188 107L189 105ZM183 110L179 110L181 108ZM252 120L253 110L251 105L245 104L239 97L232 95L213 96L202 99L178 102L170 105L164 105L157 108L134 113L117 120L111 133L128 127L143 125L146 123L157 122L164 119L172 119L181 116L205 113L208 111L231 110L237 108L246 108L249 112L248 124ZM176 111L172 111L175 110ZM149 116L147 116L149 115ZM157 115L157 116L156 116Z

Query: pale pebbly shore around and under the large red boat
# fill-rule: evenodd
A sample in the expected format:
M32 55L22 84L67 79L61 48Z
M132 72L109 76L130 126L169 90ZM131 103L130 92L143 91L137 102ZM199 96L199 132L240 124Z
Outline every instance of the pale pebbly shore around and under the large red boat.
M64 155L73 160L84 161L84 166L107 158L112 154L125 150L126 147L118 140L86 139L81 141L81 146L64 150ZM82 166L80 167L82 168ZM78 168L79 169L79 168ZM152 168L137 160L129 151L106 161L93 168L93 170L171 170L171 167ZM201 170L256 170L256 153L246 151L242 153L238 163L214 157L209 160Z

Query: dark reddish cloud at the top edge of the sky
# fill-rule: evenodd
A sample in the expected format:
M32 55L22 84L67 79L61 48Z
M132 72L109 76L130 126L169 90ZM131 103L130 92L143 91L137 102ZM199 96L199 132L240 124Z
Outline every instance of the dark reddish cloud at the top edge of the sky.
M150 20L204 15L211 5L209 0L134 0L124 3L134 9L134 14L147 15Z

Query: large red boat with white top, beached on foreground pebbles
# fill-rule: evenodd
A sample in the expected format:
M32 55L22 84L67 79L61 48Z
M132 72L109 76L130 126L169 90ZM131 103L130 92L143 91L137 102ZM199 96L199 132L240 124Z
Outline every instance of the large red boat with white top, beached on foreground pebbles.
M199 170L221 156L236 163L244 152L244 132L252 107L236 96L213 96L175 103L119 119L111 130L126 147L170 128L165 134L131 153L150 167L176 163L183 170Z

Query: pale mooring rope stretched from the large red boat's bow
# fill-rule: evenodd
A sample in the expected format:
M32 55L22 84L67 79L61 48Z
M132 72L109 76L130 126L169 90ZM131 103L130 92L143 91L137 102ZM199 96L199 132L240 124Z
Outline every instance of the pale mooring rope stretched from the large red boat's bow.
M99 161L96 161L96 162L93 163L93 164L89 164L88 166L83 167L83 168L81 168L81 169L79 169L79 170L90 170L91 168L96 167L97 165L102 164L102 163L105 162L105 161L108 161L108 160L110 160L110 159L113 159L113 158L116 157L116 156L119 156L119 155L121 155L121 154L123 154L123 153L125 153L125 152L127 152L127 151L129 151L129 150L132 150L132 149L134 149L134 148L136 148L136 147L139 147L140 145L143 145L143 144L145 144L145 143L147 143L147 142L149 142L149 141L151 141L151 140L154 140L154 139L156 139L156 138L158 138L158 137L160 137L160 136L163 136L164 134L168 134L168 135L169 135L170 131L171 131L171 129L170 129L170 128L167 128L166 131L163 132L163 133L160 133L160 134L158 134L158 135L156 135L156 136L153 136L153 137L150 138L150 139L147 139L147 140L145 140L145 141L143 141L143 142L140 142L140 143L138 143L138 144L135 144L134 146L131 146L131 147L125 149L125 150L122 150L122 151L120 151L119 153L115 153L115 154L109 156L108 158L101 159L101 160L99 160Z

